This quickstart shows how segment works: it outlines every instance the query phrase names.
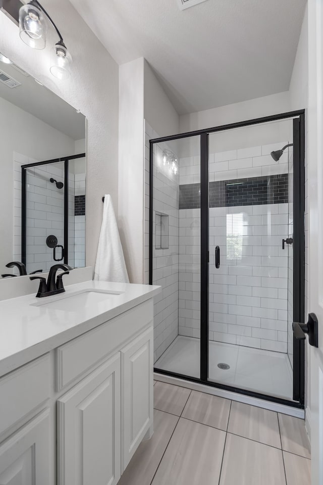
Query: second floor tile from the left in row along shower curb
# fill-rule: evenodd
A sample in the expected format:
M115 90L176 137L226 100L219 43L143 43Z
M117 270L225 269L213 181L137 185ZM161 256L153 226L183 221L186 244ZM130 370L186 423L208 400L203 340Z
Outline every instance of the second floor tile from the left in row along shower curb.
M229 399L192 391L182 417L226 431L230 404L231 401Z

